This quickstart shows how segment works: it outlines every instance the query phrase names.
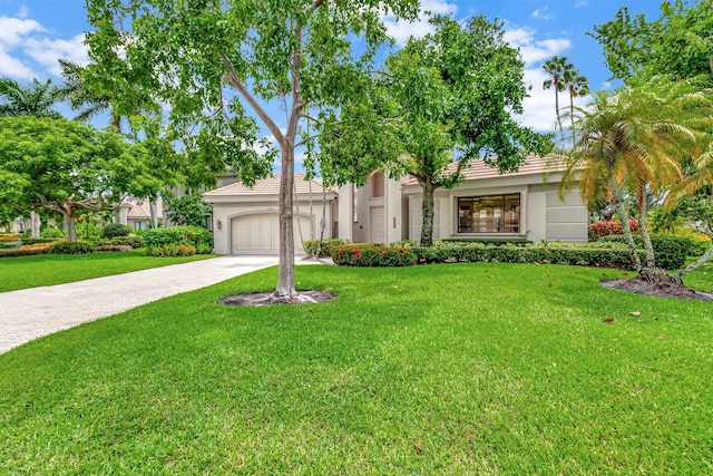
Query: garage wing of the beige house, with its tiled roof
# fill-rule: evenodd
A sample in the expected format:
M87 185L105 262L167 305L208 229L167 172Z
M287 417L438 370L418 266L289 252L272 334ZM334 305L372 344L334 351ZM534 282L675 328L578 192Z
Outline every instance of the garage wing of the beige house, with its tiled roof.
M303 240L316 240L324 223L324 237L332 237L336 193L316 181L295 174L293 203L294 247L303 254ZM280 177L257 181L253 188L233 183L203 194L213 205L214 250L218 254L277 254ZM324 210L324 216L322 214Z

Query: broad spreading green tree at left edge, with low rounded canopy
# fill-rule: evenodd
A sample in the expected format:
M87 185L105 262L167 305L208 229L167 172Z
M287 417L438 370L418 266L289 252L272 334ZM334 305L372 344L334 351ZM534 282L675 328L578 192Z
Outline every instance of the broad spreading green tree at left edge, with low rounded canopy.
M67 119L0 118L0 205L60 213L77 241L79 210L114 210L128 194L159 186L143 145Z

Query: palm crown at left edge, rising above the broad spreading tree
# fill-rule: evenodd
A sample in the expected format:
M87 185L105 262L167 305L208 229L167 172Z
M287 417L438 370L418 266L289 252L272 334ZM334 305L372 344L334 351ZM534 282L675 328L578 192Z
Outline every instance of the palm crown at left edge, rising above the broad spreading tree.
M40 82L33 78L28 86L22 86L13 79L0 78L0 117L61 117L52 110L59 101L61 95L51 79Z

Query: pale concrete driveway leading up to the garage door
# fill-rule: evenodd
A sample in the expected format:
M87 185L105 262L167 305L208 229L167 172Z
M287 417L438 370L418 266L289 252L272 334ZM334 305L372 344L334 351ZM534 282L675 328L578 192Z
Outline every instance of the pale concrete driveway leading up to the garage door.
M0 293L0 353L41 336L275 264L277 256L219 256L3 292Z

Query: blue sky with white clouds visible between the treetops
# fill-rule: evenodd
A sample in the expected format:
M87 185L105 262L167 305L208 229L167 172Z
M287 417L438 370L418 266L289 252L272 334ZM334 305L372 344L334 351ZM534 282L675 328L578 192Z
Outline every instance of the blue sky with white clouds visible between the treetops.
M555 124L554 93L543 90L547 78L541 65L560 55L589 79L592 89L608 88L609 71L602 47L585 33L614 18L626 6L632 13L658 18L660 0L423 0L423 9L466 19L473 14L499 18L506 38L520 48L526 61L525 80L533 85L525 114L519 120L538 130L551 132ZM398 43L409 35L423 35L426 21L395 25L384 21ZM32 77L59 81L57 60L88 60L82 43L89 29L84 0L0 0L0 76L19 81ZM586 98L578 100L580 104ZM71 111L64 110L71 116Z

